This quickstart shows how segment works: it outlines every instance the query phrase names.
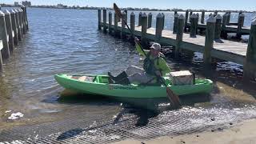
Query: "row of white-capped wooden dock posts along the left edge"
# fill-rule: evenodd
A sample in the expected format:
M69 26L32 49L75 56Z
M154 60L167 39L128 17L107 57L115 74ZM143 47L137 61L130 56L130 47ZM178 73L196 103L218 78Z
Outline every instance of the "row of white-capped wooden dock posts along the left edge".
M3 60L10 58L27 30L29 27L25 6L13 10L0 10L0 74Z

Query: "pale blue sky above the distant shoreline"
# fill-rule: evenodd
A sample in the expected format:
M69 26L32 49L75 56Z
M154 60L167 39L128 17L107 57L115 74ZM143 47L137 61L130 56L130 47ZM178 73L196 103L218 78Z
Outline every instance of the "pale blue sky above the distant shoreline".
M25 1L25 0L24 0ZM98 6L158 8L158 9L205 9L205 10L256 10L256 0L28 0L32 5ZM22 0L0 0L0 3L13 4Z

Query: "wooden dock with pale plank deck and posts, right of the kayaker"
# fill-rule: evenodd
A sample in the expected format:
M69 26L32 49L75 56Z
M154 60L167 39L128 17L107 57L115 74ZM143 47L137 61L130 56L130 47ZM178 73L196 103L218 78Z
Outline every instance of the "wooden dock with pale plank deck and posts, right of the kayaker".
M122 13L124 18L127 18L125 12ZM178 14L178 13L177 13ZM103 10L103 21L101 19L101 10L98 10L98 29L110 34L121 36L126 38L126 35L131 35L130 31L124 25L124 22L118 22L114 14L109 13L109 22L106 22L106 10ZM194 14L195 15L195 14ZM242 14L240 14L243 16ZM224 16L225 17L225 14ZM181 49L199 52L203 54L203 61L205 66L211 63L211 58L219 58L224 61L235 62L244 66L244 78L255 80L256 78L256 30L255 23L252 22L250 28L243 25L225 26L223 25L220 15L210 16L207 19L206 24L198 24L197 17L191 16L190 22L186 23L186 17L182 14L175 15L174 18L174 30L163 30L163 15L158 14L156 18L156 28L152 28L152 16L142 14L138 16L139 26L135 26L134 13L130 15L131 30L134 31L134 35L141 38L143 42L159 42L161 44L174 46L175 58L178 58ZM193 19L194 18L194 19ZM221 18L221 20L220 20ZM114 19L114 22L112 22ZM242 21L243 22L243 21ZM224 20L225 23L225 20ZM176 27L175 27L176 26ZM190 30L186 33L186 28ZM206 35L198 35L198 30L203 29ZM240 29L240 30L238 30ZM250 34L248 43L235 42L223 38L223 32L238 33L238 37L242 34ZM225 34L224 34L225 36Z

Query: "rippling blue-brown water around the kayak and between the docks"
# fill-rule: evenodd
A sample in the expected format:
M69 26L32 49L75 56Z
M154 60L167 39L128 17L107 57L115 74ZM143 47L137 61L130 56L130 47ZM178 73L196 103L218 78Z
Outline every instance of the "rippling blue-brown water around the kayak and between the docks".
M12 57L4 62L4 70L0 77L2 135L10 134L4 130L18 129L18 132L22 133L22 126L41 126L42 130L45 130L39 132L36 128L28 129L32 133L33 130L37 131L36 134L70 130L76 128L78 123L78 126L94 126L95 122L116 118L122 109L134 109L133 106L122 104L124 101L108 98L87 98L85 95L73 98L72 94L62 98L60 93L63 93L63 89L54 81L54 74L58 73L106 74L107 71L113 71L114 74L118 74L127 66L142 66L138 53L130 42L98 31L97 10L29 8L27 11L30 31L16 47ZM153 16L156 14L154 12ZM169 22L172 22L170 18L173 18L173 15L169 12L168 14L166 29L171 29ZM246 26L249 25L248 19L253 16L255 14L251 14L250 17L246 15ZM202 54L195 54L192 62L187 55L182 56L181 62L175 61L171 56L167 57L172 70L194 70L198 77L214 81L214 91L210 96L183 97L182 102L185 105L213 105L210 109L216 109L216 114L221 114L219 105L226 106L230 102L237 102L238 105L230 106L231 111L235 107L242 107L241 113L245 114L244 118L256 118L255 83L248 86L242 84L242 66L233 62L218 62L215 70L205 71L202 69ZM145 103L145 100L142 101ZM133 100L130 102L136 103ZM168 101L161 100L159 103L165 106ZM246 106L246 103L250 105ZM253 112L246 116L248 110ZM11 114L19 114L20 117L9 119ZM182 113L178 114L182 118ZM129 119L133 116L127 117ZM236 113L232 117L236 117ZM62 127L58 122L64 122L69 126ZM55 124L60 126L56 128ZM19 129L20 126L22 130ZM4 140L6 139L0 137L0 141Z

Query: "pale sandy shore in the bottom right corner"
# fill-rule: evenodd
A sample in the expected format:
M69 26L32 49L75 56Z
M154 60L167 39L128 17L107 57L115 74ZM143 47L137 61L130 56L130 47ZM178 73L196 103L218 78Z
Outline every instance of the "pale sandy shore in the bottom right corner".
M194 134L182 134L178 136L164 136L150 139L148 141L138 141L128 139L121 142L114 142L114 144L183 144L183 143L197 143L197 144L253 144L256 143L256 118L245 120L234 124L234 126L224 129L211 131L206 130Z

